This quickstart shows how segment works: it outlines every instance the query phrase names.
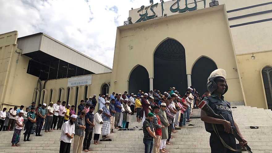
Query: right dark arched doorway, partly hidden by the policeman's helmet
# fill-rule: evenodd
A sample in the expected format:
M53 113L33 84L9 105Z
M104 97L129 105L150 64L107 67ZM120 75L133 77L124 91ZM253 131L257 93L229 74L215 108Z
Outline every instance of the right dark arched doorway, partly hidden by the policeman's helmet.
M216 70L217 66L210 58L201 57L195 62L192 68L191 81L192 86L202 96L205 90L207 90L207 79Z

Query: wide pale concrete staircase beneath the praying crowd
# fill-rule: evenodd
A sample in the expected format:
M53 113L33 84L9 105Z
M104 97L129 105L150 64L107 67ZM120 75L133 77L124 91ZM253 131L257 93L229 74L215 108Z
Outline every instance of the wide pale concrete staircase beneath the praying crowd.
M272 152L272 111L263 108L236 106L232 108L233 117L238 124L241 133L249 142L253 153ZM193 117L200 116L200 109L193 109ZM130 128L141 126L141 122L136 122L136 115L133 115ZM195 126L185 126L181 130L176 130L170 140L174 145L167 145L166 150L172 153L210 153L209 136L205 131L204 123L199 119L192 119L189 124ZM249 126L259 126L259 129L250 129ZM136 128L134 131L117 131L110 134L112 142L100 142L100 145L93 145L91 141L90 153L142 153L144 145L142 142L143 132ZM21 147L11 147L13 131L0 132L0 153L58 153L60 130L44 133L42 137L30 136L31 142L23 141L23 131L21 140L18 143ZM73 141L72 141L73 143ZM71 145L72 147L73 145ZM82 151L84 152L84 151ZM72 153L72 148L71 148Z

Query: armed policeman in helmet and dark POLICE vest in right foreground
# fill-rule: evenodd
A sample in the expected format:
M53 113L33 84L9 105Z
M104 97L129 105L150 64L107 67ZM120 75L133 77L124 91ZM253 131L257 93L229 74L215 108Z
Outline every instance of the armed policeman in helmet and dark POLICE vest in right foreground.
M226 74L226 71L223 71ZM244 144L247 144L247 141L243 138L237 124L233 120L230 103L224 100L224 97L222 96L228 89L226 79L218 73L215 73L215 75L213 75L213 73L210 75L207 82L207 89L210 91L211 96L204 97L203 100L210 106L210 108L213 109L216 114L221 114L227 121L210 117L203 110L201 110L201 120L205 123L206 131L211 133L211 153L237 153L237 151L232 151L223 146L223 143L218 138L212 127L212 124L214 124L218 130L219 136L229 147L232 147L233 149L237 149L237 147L235 137L231 134L232 128L236 129L237 133L245 142L240 142L240 145L244 147Z

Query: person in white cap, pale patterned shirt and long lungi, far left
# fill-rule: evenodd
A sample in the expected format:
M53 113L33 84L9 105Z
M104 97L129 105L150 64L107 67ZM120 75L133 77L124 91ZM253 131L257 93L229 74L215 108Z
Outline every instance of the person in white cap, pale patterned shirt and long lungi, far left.
M12 147L19 147L17 143L20 141L21 131L23 129L23 110L19 111L18 116L15 117L15 129L11 139Z

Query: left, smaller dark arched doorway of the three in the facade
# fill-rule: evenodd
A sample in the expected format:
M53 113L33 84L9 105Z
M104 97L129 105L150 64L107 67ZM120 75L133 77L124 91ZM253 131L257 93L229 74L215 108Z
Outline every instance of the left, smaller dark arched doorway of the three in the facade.
M143 92L149 91L149 75L147 69L138 65L131 72L129 77L129 93L138 93L139 90Z

